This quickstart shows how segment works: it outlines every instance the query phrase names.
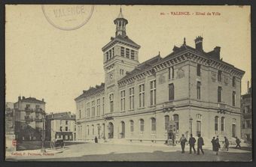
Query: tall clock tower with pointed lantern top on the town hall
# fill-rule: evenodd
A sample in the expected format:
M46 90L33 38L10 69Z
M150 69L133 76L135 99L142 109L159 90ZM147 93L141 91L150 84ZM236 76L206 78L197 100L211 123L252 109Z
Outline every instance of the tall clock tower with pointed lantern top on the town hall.
M105 70L105 113L120 112L120 94L117 82L126 72L138 66L138 52L140 46L126 35L128 20L123 17L122 9L116 19L115 37L102 47L103 64Z

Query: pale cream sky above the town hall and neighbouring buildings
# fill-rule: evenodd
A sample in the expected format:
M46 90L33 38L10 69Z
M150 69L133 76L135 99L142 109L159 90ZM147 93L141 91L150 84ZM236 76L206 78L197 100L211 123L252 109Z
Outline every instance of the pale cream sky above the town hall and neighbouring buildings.
M90 6L85 6L87 10ZM251 80L251 23L248 6L123 5L126 34L141 46L139 61L173 46L194 47L203 36L203 49L221 46L221 58L244 70L242 94ZM95 5L81 28L65 31L46 19L41 5L7 5L5 24L6 101L18 96L44 98L46 112L74 112L75 97L104 82L102 46L114 37L120 5ZM171 12L190 12L189 16ZM196 15L218 12L221 15ZM59 23L60 24L60 23Z

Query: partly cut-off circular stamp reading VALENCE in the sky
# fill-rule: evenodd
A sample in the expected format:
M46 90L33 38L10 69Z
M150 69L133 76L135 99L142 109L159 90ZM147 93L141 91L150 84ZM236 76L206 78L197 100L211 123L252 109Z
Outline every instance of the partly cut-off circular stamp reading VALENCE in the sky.
M93 5L43 4L45 18L55 28L75 30L85 25L93 14Z

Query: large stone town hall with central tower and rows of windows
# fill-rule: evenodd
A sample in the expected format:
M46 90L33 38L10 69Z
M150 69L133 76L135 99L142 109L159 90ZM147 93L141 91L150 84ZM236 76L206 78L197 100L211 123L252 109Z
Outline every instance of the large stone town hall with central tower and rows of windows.
M181 46L139 63L140 46L126 35L120 10L115 37L102 47L105 83L75 98L77 140L165 142L169 133L204 139L241 136L240 96L244 71L220 59L221 48Z

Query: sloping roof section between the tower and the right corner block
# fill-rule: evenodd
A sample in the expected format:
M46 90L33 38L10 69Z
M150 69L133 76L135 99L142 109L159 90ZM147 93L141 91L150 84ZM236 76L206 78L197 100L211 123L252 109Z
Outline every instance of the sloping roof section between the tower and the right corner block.
M142 73L143 71L149 70L151 69L151 67L154 64L157 64L162 58L160 57L160 55L156 55L153 58L144 61L143 63L139 64L134 70L132 70L131 72L126 73L126 76L124 76L122 79L119 80L119 82L128 79L132 76L136 76L136 74L138 73Z

